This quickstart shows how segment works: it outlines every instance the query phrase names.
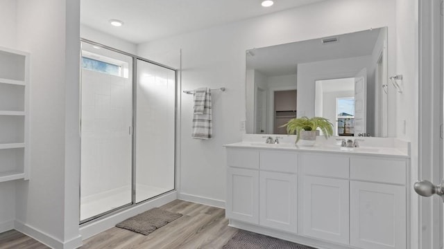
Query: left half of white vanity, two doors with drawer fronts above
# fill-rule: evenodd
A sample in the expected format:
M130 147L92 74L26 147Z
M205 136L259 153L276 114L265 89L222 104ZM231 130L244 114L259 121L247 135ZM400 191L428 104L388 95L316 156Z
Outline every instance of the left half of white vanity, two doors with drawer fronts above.
M227 218L296 233L297 154L231 148L227 154Z

